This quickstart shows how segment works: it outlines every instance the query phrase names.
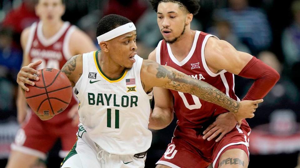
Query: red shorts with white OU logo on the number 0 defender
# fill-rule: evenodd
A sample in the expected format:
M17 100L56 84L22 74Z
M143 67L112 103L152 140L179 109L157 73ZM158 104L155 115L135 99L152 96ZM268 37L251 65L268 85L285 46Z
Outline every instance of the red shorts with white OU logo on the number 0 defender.
M185 129L180 129L182 133L177 133L179 136L176 136L176 131L166 152L156 164L172 168L207 168L212 163L213 167L217 168L220 156L229 149L242 149L249 159L248 136L251 129L246 120L243 120L240 127L233 128L219 142L215 142L215 139L204 140L201 133L192 135ZM183 136L184 134L188 136Z

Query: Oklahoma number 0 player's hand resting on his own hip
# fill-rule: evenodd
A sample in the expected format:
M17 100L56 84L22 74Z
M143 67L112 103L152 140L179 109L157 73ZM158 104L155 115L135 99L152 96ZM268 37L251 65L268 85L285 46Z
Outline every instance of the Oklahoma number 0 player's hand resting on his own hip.
M216 139L216 142L218 142L236 125L237 120L231 112L220 114L216 121L206 128L203 132L204 136L202 138L210 141L221 133L221 135Z

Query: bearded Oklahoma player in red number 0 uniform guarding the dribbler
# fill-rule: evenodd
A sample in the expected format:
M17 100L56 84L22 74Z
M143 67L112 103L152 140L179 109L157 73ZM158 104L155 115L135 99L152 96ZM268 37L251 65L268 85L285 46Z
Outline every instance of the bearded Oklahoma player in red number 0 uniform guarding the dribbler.
M213 35L191 30L190 22L200 8L197 0L150 2L157 12L164 40L149 59L205 81L235 100L239 99L234 93L234 74L255 79L244 100L263 98L278 81L279 74L252 55L237 51ZM178 91L155 88L154 100L149 128L167 126L173 119L173 109L178 118L174 137L157 162L157 168L205 168L211 163L214 168L248 166L251 129L246 120L234 120L225 109ZM227 131L224 127L230 129ZM214 139L220 133L218 139Z

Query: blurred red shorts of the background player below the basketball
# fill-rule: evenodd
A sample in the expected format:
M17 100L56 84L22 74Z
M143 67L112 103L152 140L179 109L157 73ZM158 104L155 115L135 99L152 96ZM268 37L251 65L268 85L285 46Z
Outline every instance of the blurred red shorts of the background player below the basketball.
M67 114L68 111L63 113ZM32 113L29 121L18 130L11 149L44 159L46 153L60 138L62 150L59 152L59 156L64 158L76 142L78 127L73 126L71 124L72 119L63 113L54 116L54 118L59 118L59 122L53 122L52 119L42 121L36 114Z

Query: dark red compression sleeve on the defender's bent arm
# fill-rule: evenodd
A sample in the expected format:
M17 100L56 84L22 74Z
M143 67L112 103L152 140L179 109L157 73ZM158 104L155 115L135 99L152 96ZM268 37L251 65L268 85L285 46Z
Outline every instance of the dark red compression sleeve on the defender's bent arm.
M255 79L242 100L262 99L279 80L279 73L261 60L253 57L238 76Z

